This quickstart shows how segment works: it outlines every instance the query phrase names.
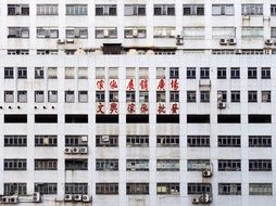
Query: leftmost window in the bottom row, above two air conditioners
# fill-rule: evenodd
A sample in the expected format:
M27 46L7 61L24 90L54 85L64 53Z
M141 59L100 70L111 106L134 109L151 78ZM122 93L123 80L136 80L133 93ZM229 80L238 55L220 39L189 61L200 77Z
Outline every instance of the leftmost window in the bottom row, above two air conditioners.
M4 195L26 195L27 183L9 182L4 183Z

